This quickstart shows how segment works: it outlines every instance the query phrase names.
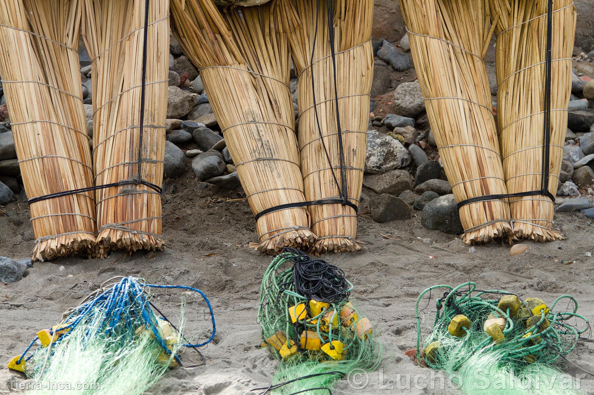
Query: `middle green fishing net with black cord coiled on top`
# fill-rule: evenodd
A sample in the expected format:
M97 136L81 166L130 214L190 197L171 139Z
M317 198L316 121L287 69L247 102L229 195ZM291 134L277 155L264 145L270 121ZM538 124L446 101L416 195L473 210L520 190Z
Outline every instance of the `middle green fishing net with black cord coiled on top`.
M264 274L258 323L263 346L280 359L276 393L328 394L354 368L374 370L381 345L369 320L349 301L342 269L286 248ZM325 351L324 351L325 350Z

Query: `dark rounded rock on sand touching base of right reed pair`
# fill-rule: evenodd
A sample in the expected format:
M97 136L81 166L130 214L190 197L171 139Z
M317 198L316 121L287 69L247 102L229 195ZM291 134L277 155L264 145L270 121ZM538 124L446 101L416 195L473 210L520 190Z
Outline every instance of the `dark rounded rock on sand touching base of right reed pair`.
M425 205L421 223L431 230L440 230L450 235L464 232L454 195L440 196Z

